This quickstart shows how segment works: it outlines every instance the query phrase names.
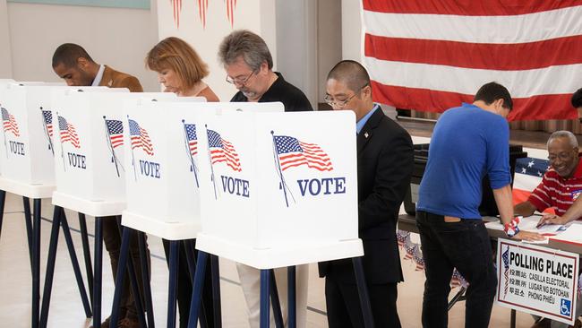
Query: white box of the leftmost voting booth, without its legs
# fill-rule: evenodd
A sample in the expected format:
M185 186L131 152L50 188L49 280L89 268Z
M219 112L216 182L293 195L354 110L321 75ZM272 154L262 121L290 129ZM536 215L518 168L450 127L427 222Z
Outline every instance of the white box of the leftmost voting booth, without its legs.
M52 92L72 88L63 83L41 82L13 82L0 87L3 178L15 186L47 191L35 198L50 197L55 188Z

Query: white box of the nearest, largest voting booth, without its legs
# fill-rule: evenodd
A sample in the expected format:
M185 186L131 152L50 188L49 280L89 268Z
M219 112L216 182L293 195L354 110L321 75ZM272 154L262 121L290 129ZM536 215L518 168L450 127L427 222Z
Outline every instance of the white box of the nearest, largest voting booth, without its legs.
M204 132L197 248L259 269L363 255L353 112L232 113Z

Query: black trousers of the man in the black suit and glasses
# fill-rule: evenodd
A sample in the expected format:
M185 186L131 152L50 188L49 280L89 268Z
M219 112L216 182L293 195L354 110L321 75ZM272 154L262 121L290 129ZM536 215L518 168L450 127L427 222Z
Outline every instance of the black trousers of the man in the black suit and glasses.
M397 283L369 284L368 293L372 304L372 316L376 327L400 328L396 309ZM325 279L325 304L328 309L330 328L364 328L364 317L357 286Z

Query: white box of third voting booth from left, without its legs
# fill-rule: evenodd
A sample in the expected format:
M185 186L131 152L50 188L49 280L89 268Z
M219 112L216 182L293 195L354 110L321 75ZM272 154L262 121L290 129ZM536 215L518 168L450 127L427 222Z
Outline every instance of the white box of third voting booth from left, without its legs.
M283 105L181 99L128 108L125 142L133 147L125 153L124 226L173 240L196 237L201 227L198 188L204 179L199 164L206 160L198 150L206 138L203 122L217 112L237 110L283 111Z

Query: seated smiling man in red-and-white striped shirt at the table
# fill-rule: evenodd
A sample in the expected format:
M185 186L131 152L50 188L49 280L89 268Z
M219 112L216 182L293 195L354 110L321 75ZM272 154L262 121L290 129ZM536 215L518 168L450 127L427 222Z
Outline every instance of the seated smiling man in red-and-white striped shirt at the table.
M556 215L546 215L540 223L554 222L560 218L582 194L582 160L578 154L578 140L569 131L554 132L548 139L548 160L550 169L543 175L542 182L535 188L526 202L518 203L514 208L515 215L530 216L534 211L543 211L549 207L556 210ZM565 222L564 222L565 223ZM578 301L577 315L580 315L581 302ZM535 324L532 328L566 328L562 324L547 318L534 315ZM575 327L580 327L577 319Z

